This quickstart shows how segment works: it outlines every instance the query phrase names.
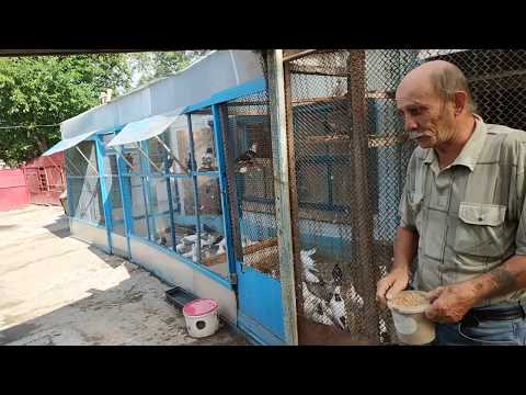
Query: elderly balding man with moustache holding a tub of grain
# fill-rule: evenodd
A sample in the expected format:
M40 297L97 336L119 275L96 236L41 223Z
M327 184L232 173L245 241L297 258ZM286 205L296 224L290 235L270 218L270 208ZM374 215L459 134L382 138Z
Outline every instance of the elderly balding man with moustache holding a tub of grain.
M377 301L428 292L437 345L526 345L526 133L485 124L462 72L443 60L410 71L397 106L418 142Z

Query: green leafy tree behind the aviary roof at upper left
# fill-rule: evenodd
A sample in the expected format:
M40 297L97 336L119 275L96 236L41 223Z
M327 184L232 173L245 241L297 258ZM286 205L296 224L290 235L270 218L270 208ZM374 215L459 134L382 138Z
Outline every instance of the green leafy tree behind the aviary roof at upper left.
M41 155L60 132L37 125L56 125L98 105L101 91L118 94L130 77L125 54L0 58L1 158L15 166Z

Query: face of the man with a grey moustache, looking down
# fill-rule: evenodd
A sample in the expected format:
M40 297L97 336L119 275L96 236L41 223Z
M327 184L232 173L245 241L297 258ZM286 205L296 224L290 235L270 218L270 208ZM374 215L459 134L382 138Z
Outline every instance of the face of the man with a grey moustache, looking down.
M404 131L422 148L434 148L449 140L455 133L453 103L444 102L427 84L400 84L397 109L403 119Z

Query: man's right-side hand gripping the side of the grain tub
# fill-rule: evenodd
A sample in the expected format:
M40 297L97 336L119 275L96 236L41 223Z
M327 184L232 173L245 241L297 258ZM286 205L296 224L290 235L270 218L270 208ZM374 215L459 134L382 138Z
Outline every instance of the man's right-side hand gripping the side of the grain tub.
M438 286L428 297L431 305L425 316L435 323L458 323L477 303L477 294L469 282Z

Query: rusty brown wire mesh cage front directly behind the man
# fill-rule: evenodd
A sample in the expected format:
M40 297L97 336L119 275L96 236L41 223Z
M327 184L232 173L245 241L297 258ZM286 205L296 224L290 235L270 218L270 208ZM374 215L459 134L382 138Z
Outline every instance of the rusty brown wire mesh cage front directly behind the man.
M375 303L376 283L392 260L398 204L414 148L397 114L396 89L418 65L444 59L466 74L487 123L524 129L525 55L316 50L285 61L299 317L325 325L334 341L334 328L373 342L396 341L390 315Z

